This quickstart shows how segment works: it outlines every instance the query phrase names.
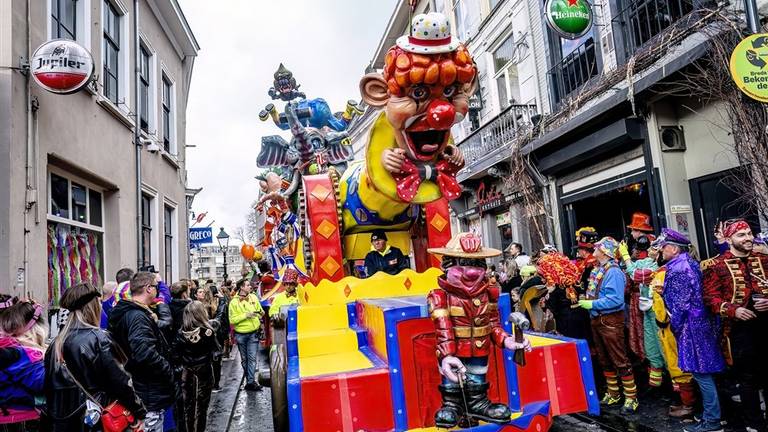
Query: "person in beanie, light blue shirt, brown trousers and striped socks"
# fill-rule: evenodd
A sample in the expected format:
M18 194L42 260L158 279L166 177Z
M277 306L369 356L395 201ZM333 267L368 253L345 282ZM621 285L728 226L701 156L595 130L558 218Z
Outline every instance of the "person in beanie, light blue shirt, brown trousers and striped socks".
M637 411L637 386L632 365L627 356L624 337L624 287L626 277L616 263L619 243L613 237L603 237L595 243L595 259L599 264L592 270L586 299L578 304L589 311L592 338L600 366L605 375L608 391L602 403L607 406L621 403L619 379L624 390L625 414Z

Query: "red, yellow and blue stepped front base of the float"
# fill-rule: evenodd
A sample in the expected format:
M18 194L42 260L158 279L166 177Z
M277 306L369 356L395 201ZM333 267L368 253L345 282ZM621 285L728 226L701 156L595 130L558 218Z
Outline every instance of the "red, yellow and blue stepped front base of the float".
M307 284L287 317L287 407L291 431L436 431L440 375L425 293L440 272ZM510 313L507 295L499 312ZM489 395L514 411L506 425L474 431L545 431L552 417L599 413L585 341L529 334L526 365L494 349ZM307 401L302 403L302 401Z

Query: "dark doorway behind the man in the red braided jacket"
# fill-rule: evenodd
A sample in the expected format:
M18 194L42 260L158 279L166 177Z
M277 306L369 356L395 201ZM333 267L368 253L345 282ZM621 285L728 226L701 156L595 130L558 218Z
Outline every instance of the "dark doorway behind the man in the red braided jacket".
M743 218L758 233L760 219L755 208L743 200L734 186L736 180L747 178L743 168L734 168L698 177L689 181L696 235L702 257L717 255L715 250L714 227L719 221Z

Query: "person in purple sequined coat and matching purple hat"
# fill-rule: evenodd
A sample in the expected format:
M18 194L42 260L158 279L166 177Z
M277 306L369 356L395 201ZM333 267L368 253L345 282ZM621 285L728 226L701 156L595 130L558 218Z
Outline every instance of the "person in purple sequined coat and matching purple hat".
M717 318L704 306L701 269L688 254L690 240L679 232L664 228L654 245L661 247L667 261L662 297L677 339L679 366L693 374L704 405L702 420L683 430L722 432L714 374L725 369L725 361L718 344Z

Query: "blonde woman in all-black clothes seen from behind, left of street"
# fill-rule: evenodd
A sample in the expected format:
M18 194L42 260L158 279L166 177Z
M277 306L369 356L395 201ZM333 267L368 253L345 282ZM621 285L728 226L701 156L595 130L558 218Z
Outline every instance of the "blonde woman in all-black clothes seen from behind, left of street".
M173 342L173 351L183 368L181 388L187 432L205 431L213 391L213 355L219 350L219 344L216 324L209 321L206 309L206 305L197 300L188 304Z

